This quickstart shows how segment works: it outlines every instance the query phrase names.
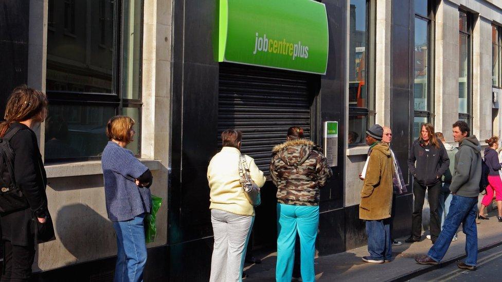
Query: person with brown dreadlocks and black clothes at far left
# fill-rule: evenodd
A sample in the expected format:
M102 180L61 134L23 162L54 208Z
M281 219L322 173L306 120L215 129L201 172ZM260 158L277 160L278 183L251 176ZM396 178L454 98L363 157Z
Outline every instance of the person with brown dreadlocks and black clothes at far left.
M21 86L12 91L5 109L6 121L0 124L0 137L4 142L8 141L14 151L16 185L26 198L26 205L20 209L0 214L5 250L2 282L28 281L37 243L35 238L44 241L53 237L45 194L47 177L37 137L32 130L46 116L45 94Z

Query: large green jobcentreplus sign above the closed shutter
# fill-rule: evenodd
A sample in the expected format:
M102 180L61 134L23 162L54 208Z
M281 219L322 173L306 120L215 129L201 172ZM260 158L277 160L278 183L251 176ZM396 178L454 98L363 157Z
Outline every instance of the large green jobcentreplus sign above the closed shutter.
M312 0L220 0L218 60L326 73L328 17Z

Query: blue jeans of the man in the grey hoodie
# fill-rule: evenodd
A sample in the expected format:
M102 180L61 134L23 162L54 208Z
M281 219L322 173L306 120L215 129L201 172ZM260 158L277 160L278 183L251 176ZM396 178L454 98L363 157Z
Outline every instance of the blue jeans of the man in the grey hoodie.
M467 235L465 240L465 252L467 259L465 264L476 266L478 257L478 235L476 228L476 209L478 197L462 197L453 195L450 205L450 212L444 221L444 227L431 250L427 253L429 257L439 262L446 254L452 243L453 236L457 232L460 223L462 231Z

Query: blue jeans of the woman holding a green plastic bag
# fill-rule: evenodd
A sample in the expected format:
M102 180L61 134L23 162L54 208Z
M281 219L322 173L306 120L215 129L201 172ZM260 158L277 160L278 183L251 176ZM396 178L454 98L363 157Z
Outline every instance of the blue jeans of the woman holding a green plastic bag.
M145 214L140 214L131 220L113 222L117 232L115 282L143 281L143 269L147 262L144 218Z

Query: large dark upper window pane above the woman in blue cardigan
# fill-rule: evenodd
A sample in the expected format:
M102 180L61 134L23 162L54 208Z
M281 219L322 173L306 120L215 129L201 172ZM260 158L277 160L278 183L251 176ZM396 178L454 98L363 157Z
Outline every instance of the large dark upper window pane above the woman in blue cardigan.
M49 0L47 93L112 93L114 1Z

